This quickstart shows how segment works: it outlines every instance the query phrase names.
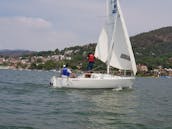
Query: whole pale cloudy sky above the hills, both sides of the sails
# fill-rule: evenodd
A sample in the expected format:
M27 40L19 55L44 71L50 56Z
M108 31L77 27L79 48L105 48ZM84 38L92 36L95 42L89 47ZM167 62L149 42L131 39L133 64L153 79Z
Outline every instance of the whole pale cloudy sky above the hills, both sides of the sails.
M0 49L55 50L96 43L106 0L0 0ZM130 36L172 26L172 0L120 0Z

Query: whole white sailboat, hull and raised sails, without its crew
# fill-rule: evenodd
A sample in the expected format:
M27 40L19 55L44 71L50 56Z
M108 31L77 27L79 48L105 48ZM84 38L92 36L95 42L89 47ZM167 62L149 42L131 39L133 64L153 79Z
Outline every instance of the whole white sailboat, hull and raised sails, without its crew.
M50 83L58 88L131 88L137 72L135 58L118 0L107 0L107 18L95 49L95 57L107 65L107 73L61 78L53 76ZM110 67L131 71L131 76L112 75ZM125 73L125 72L124 72Z

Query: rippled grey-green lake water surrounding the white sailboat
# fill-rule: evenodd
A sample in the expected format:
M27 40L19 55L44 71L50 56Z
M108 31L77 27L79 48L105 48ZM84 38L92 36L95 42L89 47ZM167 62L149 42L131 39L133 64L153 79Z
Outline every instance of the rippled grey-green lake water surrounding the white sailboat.
M78 90L50 87L54 74L0 70L0 129L172 129L172 78Z

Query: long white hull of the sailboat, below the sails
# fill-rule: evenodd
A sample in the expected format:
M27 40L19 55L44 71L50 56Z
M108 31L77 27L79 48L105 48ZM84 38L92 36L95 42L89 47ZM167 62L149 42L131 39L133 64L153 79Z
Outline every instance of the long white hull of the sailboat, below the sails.
M101 78L60 78L53 76L51 85L57 88L79 88L79 89L98 89L98 88L131 88L135 77L105 76Z

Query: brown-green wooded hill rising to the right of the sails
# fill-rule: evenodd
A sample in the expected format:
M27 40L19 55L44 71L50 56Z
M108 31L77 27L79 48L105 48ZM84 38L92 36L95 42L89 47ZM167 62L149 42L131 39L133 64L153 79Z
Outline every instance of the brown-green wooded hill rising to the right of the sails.
M172 67L172 27L160 28L131 37L137 63L151 67Z

